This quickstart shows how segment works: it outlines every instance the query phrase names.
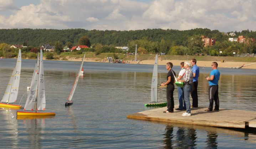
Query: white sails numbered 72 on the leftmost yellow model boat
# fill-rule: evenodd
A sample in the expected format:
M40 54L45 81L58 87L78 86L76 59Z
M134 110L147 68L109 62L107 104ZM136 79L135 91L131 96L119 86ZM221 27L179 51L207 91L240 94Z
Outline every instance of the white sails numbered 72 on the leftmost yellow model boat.
M2 98L2 102L7 102L7 103L16 102L18 91L19 91L19 84L20 84L20 70L21 70L21 50L19 50L16 67L12 72L10 81L7 85L5 94Z

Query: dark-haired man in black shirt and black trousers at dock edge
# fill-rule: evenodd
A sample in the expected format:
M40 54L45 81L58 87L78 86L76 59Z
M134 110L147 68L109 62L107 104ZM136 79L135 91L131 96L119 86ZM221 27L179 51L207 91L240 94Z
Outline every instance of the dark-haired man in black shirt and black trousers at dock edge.
M173 68L173 63L168 62L166 63L166 70L168 70L167 73L167 81L162 83L161 86L167 85L166 88L166 98L167 98L167 111L164 111L164 113L173 113L174 108L174 98L173 98L173 91L174 91L174 81L176 73L171 70Z

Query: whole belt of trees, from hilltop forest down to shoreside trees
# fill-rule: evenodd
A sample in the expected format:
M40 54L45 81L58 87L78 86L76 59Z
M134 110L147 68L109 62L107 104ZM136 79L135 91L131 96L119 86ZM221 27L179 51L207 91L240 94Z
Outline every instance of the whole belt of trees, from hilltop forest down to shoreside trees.
M229 33L229 32L227 32ZM247 38L256 38L256 31L243 30L236 32L236 36L243 35ZM214 46L203 46L201 36L215 38ZM223 56L238 53L256 53L256 45L253 42L230 42L224 32L210 29L147 29L147 30L85 30L85 29L0 29L0 56L15 56L15 50L8 49L6 45L28 46L22 51L33 52L33 48L39 48L44 43L55 46L57 53L62 52L64 46L87 45L92 48L85 51L96 52L122 52L115 46L128 46L129 52L135 51L135 45L139 53L167 53L169 55L194 55L204 53L206 55L218 55L222 51ZM192 40L193 39L193 40ZM6 45L5 45L6 44ZM3 48L4 47L4 48ZM31 51L32 50L32 51ZM127 52L127 51L124 51ZM8 53L8 54L7 54ZM7 54L7 56L6 56Z

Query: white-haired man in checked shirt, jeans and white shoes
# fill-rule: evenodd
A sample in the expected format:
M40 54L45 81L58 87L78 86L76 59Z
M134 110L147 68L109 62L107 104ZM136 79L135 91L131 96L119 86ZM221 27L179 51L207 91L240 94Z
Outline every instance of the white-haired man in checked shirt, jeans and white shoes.
M189 93L192 89L193 72L190 69L189 62L184 62L184 68L186 69L185 75L182 80L179 80L179 82L184 82L183 93L184 93L184 101L186 104L186 112L183 113L182 116L190 116L191 108L190 108L190 102L189 102Z

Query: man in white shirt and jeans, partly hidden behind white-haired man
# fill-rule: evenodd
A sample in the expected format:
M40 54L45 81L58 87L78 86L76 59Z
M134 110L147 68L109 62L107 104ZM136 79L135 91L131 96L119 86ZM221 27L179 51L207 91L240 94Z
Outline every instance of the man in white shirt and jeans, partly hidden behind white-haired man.
M184 62L180 63L180 72L179 72L179 76L177 78L177 81L179 81L180 79L183 80L183 76L185 75L185 68L184 68ZM179 108L176 108L175 110L183 110L186 109L186 104L184 101L184 93L183 93L183 87L179 87L177 86L178 89L178 99L179 99ZM183 106L184 105L184 106Z

